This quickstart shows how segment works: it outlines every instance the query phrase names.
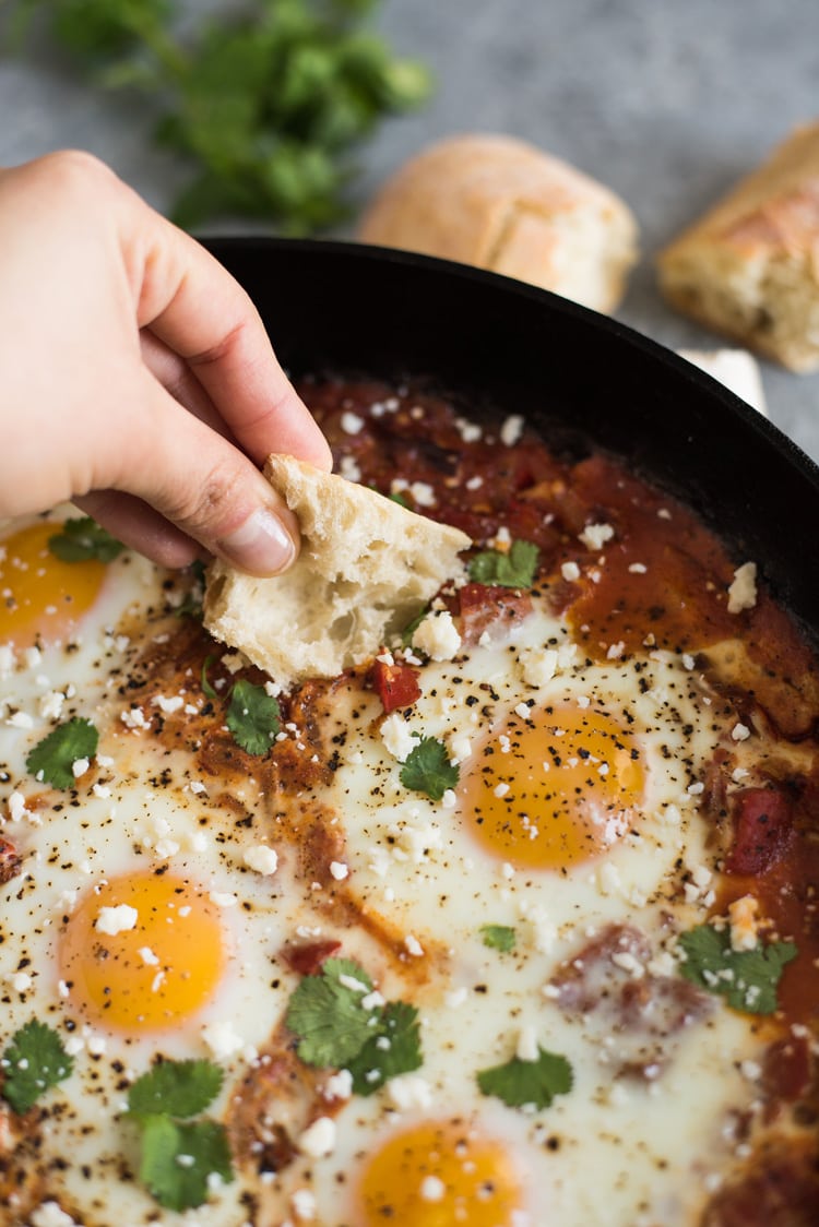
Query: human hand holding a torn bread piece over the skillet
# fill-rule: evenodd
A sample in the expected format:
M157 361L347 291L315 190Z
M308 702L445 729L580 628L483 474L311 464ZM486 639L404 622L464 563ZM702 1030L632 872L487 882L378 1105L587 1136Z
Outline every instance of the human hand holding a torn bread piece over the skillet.
M72 499L169 567L284 569L257 466L330 466L244 291L86 153L0 171L0 515Z

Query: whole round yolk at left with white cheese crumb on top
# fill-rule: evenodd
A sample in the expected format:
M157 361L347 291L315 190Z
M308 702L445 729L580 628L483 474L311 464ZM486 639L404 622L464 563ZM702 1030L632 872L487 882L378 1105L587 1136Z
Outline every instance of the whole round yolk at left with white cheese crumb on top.
M123 1032L160 1031L210 1000L225 966L217 908L171 874L112 879L71 913L61 945L70 999Z

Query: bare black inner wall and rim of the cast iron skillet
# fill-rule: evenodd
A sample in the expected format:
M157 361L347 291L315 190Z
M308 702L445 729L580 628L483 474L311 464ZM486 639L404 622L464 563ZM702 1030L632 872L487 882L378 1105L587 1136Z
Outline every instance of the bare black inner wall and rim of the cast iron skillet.
M292 375L433 377L523 412L560 448L594 440L697 509L819 640L819 469L716 380L640 334L508 277L357 244L208 242Z

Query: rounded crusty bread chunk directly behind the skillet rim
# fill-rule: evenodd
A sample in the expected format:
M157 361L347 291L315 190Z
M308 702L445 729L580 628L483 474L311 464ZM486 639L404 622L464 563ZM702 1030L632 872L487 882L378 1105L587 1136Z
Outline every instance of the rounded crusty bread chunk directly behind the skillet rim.
M359 229L365 243L475 264L613 310L637 223L613 191L511 136L454 136L406 162Z

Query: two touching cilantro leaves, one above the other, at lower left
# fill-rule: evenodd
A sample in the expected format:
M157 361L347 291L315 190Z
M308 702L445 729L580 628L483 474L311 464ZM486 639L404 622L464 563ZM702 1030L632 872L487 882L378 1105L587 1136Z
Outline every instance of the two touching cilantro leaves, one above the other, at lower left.
M225 1126L188 1120L219 1094L222 1071L212 1061L161 1061L128 1093L128 1113L140 1129L140 1180L168 1210L208 1200L208 1178L233 1179Z

